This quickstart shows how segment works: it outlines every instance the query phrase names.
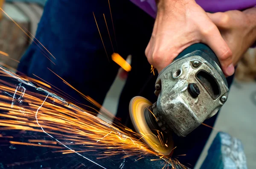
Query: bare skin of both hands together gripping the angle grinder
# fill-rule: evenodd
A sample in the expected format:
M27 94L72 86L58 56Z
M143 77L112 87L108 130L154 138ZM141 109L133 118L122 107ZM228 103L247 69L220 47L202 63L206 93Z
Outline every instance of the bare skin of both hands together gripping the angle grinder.
M160 0L145 55L160 72L185 48L202 42L215 52L224 74L231 76L234 64L256 40L255 16L255 8L207 14L195 0Z

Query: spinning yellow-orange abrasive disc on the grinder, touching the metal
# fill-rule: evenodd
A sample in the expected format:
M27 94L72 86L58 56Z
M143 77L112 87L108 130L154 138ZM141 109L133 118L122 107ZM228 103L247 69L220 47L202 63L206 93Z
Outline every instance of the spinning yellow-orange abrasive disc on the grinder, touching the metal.
M161 155L171 155L173 149L172 134L166 134L161 130L154 131L148 127L145 110L152 103L141 96L136 96L130 101L129 112L133 126L143 141L154 151ZM148 111L147 111L148 112Z

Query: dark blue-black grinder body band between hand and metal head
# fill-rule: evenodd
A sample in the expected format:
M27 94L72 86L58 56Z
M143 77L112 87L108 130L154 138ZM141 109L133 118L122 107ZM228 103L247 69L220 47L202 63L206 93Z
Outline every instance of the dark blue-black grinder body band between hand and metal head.
M204 43L195 43L191 46L189 46L188 48L184 49L175 59L180 59L183 56L185 56L186 54L190 54L194 51L202 51L204 52L206 55L203 55L201 57L203 57L204 59L208 60L213 60L214 62L217 63L217 65L221 68L221 64L217 58L217 56L215 55L215 53L212 51L211 48L209 48L209 46L205 45Z

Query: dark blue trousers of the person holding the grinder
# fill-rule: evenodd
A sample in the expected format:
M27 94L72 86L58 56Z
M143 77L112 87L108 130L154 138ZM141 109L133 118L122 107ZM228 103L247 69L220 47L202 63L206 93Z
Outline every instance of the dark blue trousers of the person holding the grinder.
M123 58L131 54L132 69L120 96L116 115L121 118L123 124L131 127L128 115L131 98L144 96L152 102L157 100L154 96L157 74L153 76L150 73L151 65L144 54L151 37L154 19L129 0L110 0L110 5L114 31L108 0L48 0L38 25L36 38L55 59L38 42L34 42L22 57L18 70L32 78L37 79L38 76L44 79L67 93L66 96L72 96L73 99L70 100L78 104L90 105L50 71L52 70L81 93L102 104L119 69L119 66L111 60L113 50ZM102 45L93 12L108 56ZM70 96L68 97L71 98ZM206 120L205 123L213 126L216 117L217 115ZM195 166L210 132L210 128L201 125L186 138L175 137L177 148L173 158L176 155L186 154L180 156L178 160L184 165Z

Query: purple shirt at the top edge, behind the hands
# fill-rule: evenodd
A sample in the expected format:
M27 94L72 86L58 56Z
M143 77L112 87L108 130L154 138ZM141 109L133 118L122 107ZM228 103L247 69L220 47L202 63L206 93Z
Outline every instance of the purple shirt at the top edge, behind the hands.
M256 6L256 0L195 0L207 12L224 12L242 10ZM157 7L155 0L131 0L142 8L151 17L156 17Z

